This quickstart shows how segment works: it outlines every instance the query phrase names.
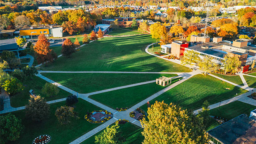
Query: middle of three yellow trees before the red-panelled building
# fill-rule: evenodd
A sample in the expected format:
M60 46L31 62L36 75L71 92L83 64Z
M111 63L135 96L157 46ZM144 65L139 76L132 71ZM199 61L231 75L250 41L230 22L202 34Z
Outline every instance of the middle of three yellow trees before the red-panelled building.
M211 72L218 68L218 64L210 56L205 56L204 58L202 58L198 66L204 71L204 75L206 75L206 72Z

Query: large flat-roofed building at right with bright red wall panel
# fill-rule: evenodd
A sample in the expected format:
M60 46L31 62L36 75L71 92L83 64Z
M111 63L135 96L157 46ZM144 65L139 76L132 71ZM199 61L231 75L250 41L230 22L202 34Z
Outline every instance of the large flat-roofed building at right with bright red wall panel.
M200 58L210 56L220 64L224 60L225 55L228 54L229 56L237 56L241 61L241 65L246 66L252 64L253 60L256 60L256 47L253 47L251 44L252 40L248 39L238 39L230 42L222 40L222 37L215 37L210 42L210 37L198 34L197 36L192 35L190 42L172 42L171 46L169 46L169 53L180 58L180 56L184 55L184 52L193 50L200 54ZM168 53L165 48L162 52Z

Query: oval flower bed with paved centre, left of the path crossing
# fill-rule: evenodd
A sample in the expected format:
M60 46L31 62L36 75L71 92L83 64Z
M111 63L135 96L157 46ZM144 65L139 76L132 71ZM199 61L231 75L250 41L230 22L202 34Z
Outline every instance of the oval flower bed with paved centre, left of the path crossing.
M113 114L106 110L93 111L84 116L84 119L92 124L100 124L110 120L111 118L113 118Z

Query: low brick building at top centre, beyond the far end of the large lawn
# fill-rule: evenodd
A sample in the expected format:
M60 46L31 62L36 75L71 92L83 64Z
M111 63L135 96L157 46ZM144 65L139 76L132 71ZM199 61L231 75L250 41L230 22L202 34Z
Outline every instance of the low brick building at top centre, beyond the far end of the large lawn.
M118 20L118 26L119 27L131 27L132 26L132 20L136 19L135 17L131 17L131 18L120 18L120 17L116 17L114 19L102 19L102 24L110 24L111 22L113 22L114 20Z

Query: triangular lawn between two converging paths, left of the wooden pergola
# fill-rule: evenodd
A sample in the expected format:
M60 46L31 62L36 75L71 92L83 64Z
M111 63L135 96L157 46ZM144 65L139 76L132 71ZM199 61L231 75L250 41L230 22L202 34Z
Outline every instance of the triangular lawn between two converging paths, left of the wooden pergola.
M112 74L112 73L41 73L51 80L79 93L89 93L176 74Z

